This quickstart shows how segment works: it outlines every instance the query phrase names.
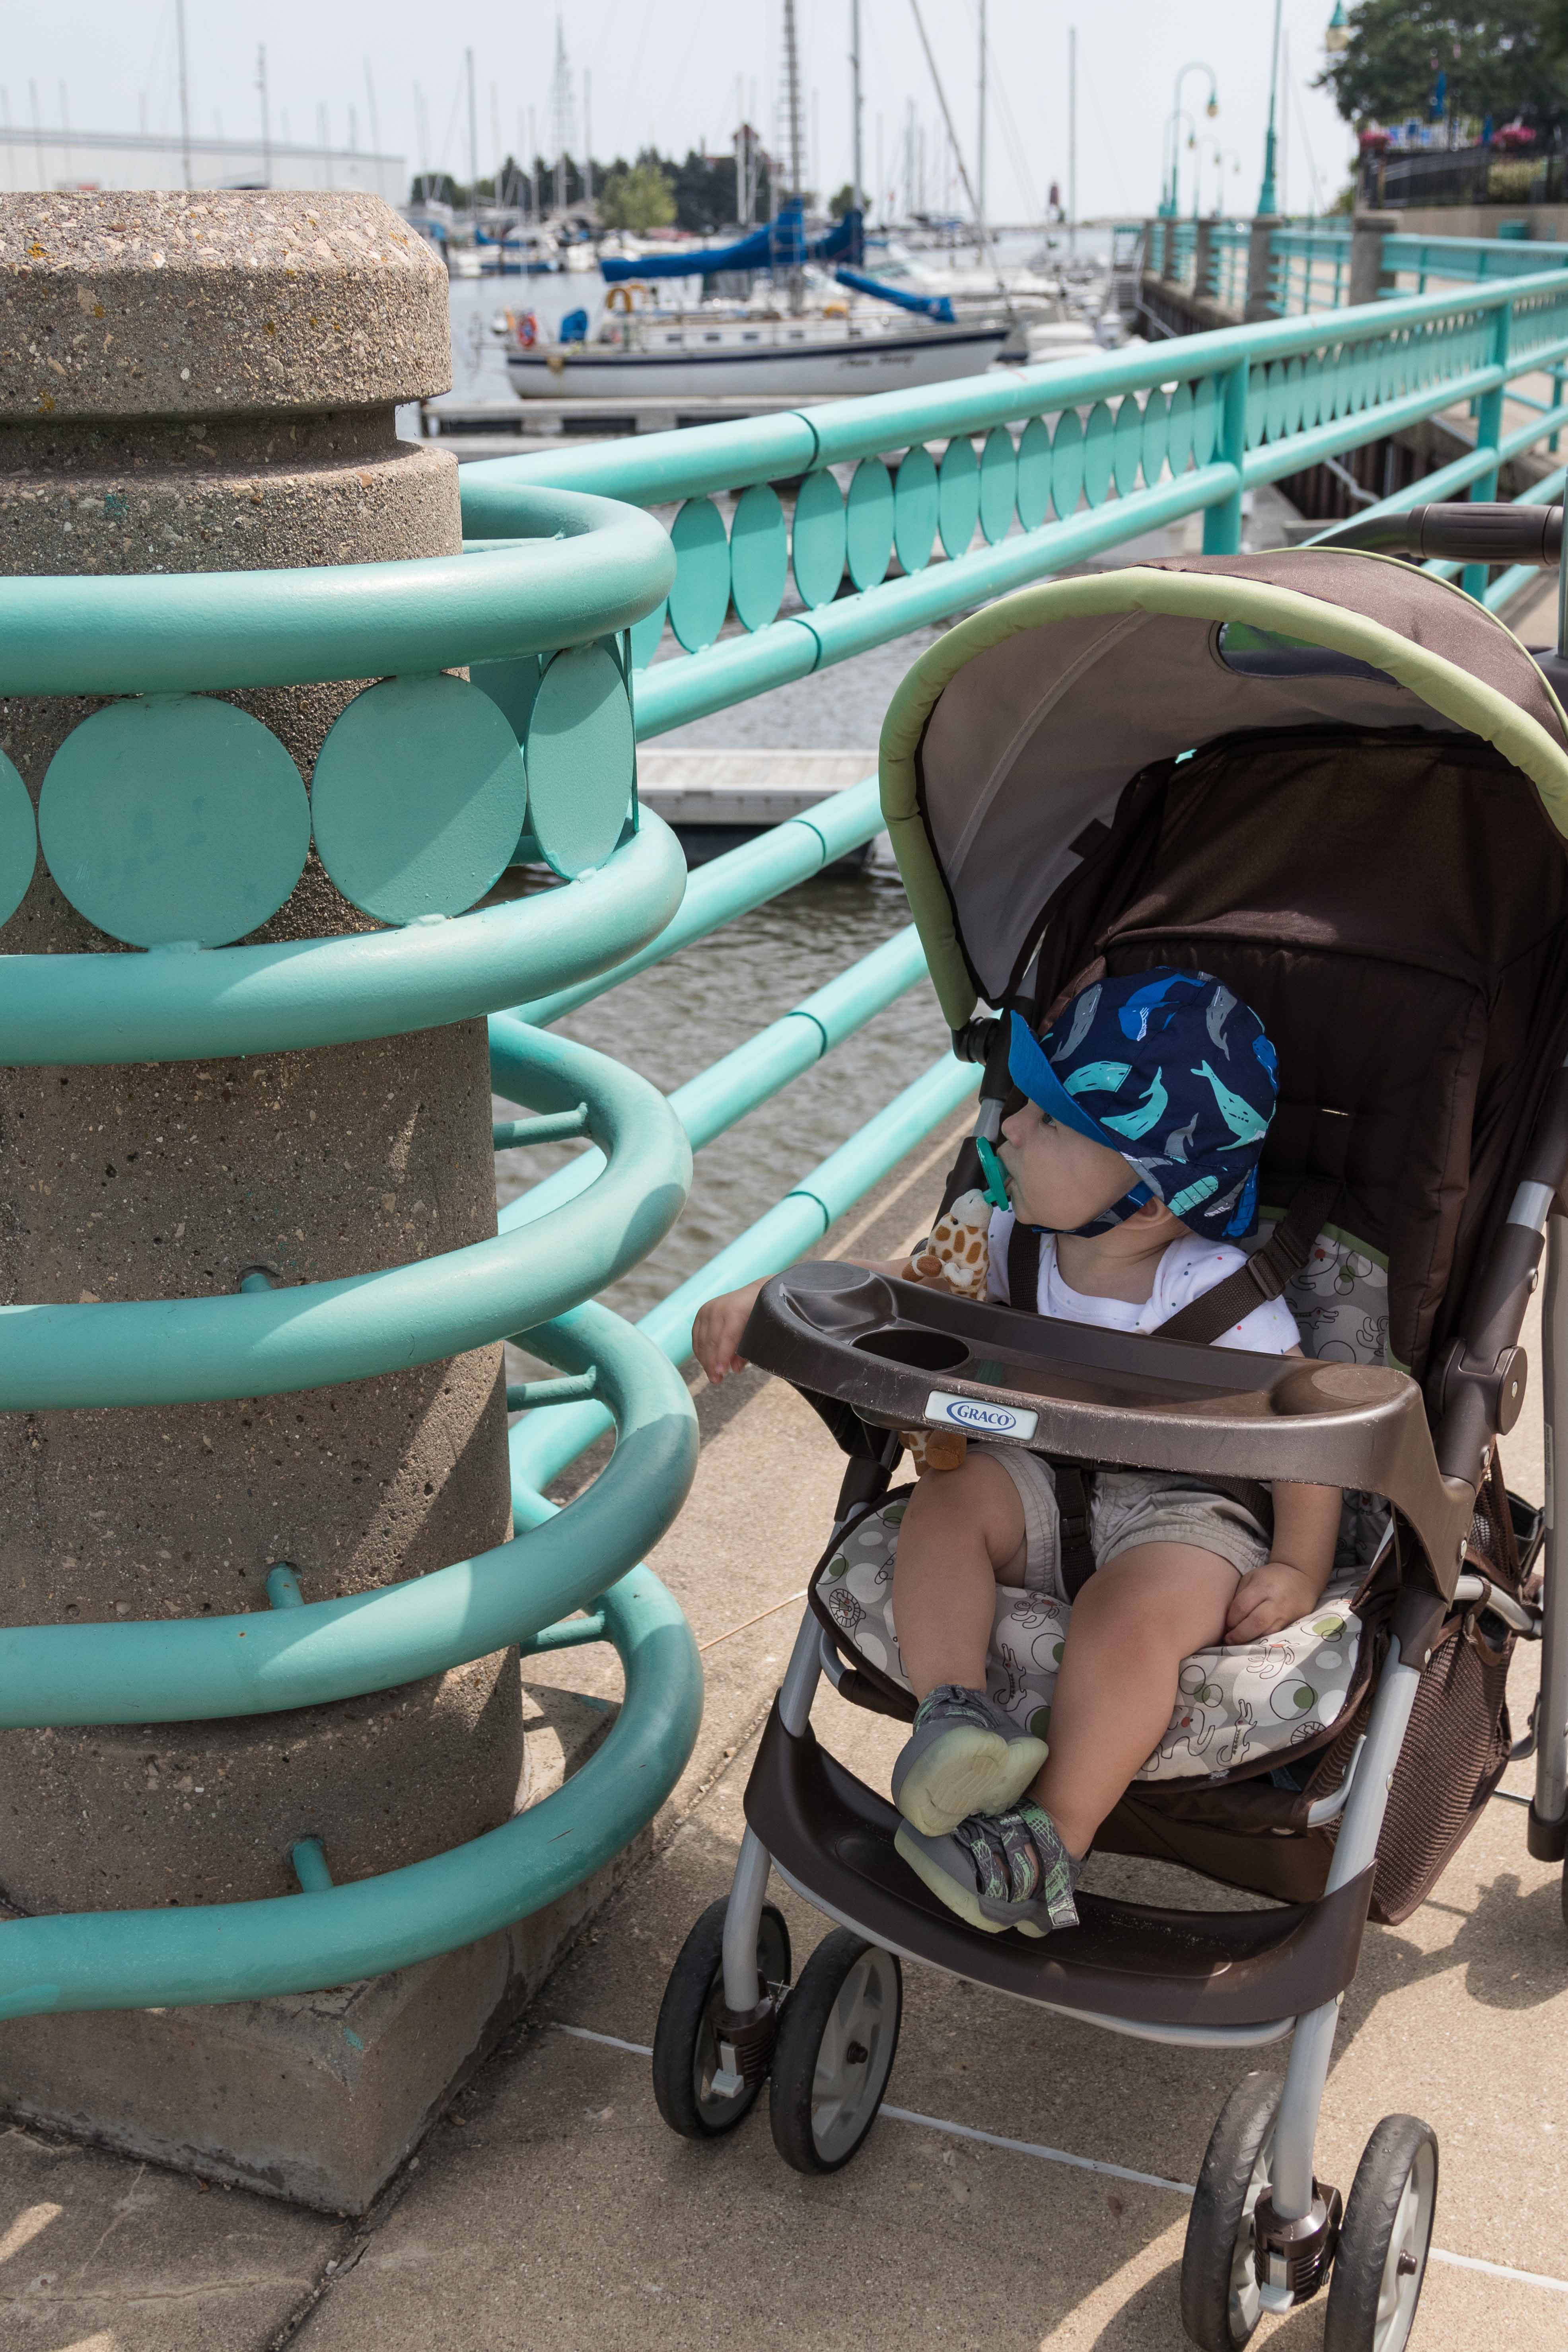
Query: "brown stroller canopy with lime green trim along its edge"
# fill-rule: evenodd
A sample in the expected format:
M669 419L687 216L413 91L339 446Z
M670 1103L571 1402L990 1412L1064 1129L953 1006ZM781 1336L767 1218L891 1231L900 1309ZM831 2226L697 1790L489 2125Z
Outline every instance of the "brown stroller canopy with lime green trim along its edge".
M952 628L882 729L882 809L945 1018L1018 993L1046 903L1145 767L1324 724L1495 746L1561 854L1552 687L1502 621L1392 557L1178 557L1025 588Z

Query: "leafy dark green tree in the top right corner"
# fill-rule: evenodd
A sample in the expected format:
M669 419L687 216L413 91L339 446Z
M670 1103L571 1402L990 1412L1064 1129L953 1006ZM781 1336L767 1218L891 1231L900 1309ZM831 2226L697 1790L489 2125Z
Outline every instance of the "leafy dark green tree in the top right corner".
M1347 31L1319 85L1347 122L1425 118L1439 73L1450 115L1568 122L1568 0L1359 0Z

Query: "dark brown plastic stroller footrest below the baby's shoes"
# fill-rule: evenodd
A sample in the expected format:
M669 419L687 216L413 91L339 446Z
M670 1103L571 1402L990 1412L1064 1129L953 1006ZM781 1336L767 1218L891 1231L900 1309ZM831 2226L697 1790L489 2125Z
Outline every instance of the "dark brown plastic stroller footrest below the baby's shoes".
M1373 1872L1321 1903L1178 1912L1079 1896L1077 1929L983 1936L893 1851L898 1813L778 1705L745 1790L745 1818L776 1867L872 1943L1051 2009L1199 2030L1284 2023L1356 1973Z

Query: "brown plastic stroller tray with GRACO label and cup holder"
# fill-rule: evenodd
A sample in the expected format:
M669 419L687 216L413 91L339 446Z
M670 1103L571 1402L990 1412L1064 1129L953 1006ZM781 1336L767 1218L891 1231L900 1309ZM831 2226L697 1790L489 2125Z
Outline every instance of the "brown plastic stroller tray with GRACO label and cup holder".
M741 1352L879 1428L1380 1494L1446 1590L1460 1571L1474 1491L1441 1477L1403 1371L1105 1331L830 1261L766 1284Z

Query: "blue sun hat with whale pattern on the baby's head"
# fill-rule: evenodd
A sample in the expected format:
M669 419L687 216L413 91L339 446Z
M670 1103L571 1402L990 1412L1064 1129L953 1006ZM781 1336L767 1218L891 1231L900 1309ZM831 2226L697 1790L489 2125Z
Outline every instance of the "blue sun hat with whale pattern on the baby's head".
M1138 1183L1086 1230L1164 1200L1194 1232L1258 1223L1258 1155L1276 1056L1262 1021L1206 971L1131 971L1084 988L1044 1037L1013 1014L1009 1073L1048 1117L1131 1162Z

